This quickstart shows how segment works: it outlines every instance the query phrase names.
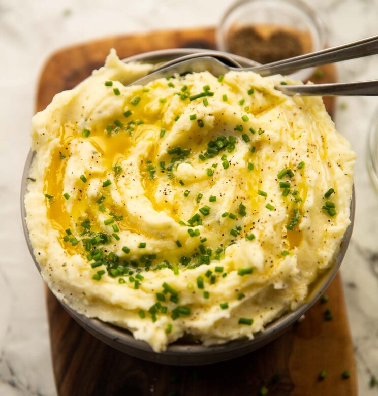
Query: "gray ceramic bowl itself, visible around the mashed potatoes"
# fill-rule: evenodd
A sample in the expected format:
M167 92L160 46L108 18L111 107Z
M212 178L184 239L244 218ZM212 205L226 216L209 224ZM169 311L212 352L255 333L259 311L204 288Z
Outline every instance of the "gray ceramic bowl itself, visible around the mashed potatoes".
M177 56L192 54L199 52L198 49L174 49L174 50L163 50L163 51L153 51L145 54L132 56L130 58L124 59L125 62L131 60L141 60L148 62L161 62L164 60L169 60ZM216 51L212 51L216 52ZM240 65L254 65L249 59L242 58L240 56L235 56L228 54L233 57ZM22 225L24 229L24 234L26 238L26 243L29 248L30 254L33 257L35 265L40 271L40 267L33 254L33 248L30 244L29 233L26 226L26 210L24 205L24 196L27 191L28 174L30 170L31 163L33 162L34 152L30 151L27 156L25 168L22 175L21 183L21 215L22 215ZM260 332L255 335L253 340L240 339L235 341L230 341L222 345L214 345L210 347L205 347L199 343L191 340L182 339L168 346L165 352L156 353L151 347L144 341L135 340L133 335L120 327L114 326L110 323L103 322L99 319L87 318L84 315L72 310L64 302L60 301L60 304L66 309L66 311L90 334L97 337L106 344L116 348L124 353L138 357L140 359L149 360L153 362L158 362L162 364L169 365L205 365L211 364L219 361L224 361L232 359L238 356L242 356L248 352L254 351L265 344L273 341L275 338L280 336L285 332L288 327L294 324L323 294L327 286L331 283L332 279L336 275L341 261L345 255L346 249L348 248L349 241L352 235L353 222L354 222L354 212L355 212L355 194L353 191L352 202L351 202L351 224L345 232L344 239L341 243L341 249L338 256L335 259L332 267L329 268L314 284L311 288L306 302L296 311L288 312L282 315L280 318L269 323L264 332Z

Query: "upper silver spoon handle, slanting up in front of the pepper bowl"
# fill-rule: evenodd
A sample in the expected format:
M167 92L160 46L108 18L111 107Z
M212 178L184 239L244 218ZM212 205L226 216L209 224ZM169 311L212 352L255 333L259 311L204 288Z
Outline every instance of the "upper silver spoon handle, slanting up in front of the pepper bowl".
M378 35L317 52L266 63L261 66L248 68L248 70L259 73L264 77L274 74L289 74L299 69L311 68L320 66L321 64L339 62L341 60L361 58L377 53Z

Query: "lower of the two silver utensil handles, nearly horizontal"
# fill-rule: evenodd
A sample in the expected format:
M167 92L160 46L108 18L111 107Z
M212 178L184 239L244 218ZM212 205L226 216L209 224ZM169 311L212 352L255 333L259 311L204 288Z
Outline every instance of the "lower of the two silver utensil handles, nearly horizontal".
M288 96L378 96L378 80L337 84L276 85Z

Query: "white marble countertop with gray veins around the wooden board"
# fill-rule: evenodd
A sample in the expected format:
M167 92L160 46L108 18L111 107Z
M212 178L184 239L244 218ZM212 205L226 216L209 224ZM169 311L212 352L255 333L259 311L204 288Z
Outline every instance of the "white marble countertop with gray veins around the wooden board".
M0 0L0 394L56 394L42 280L21 227L19 191L38 73L55 49L157 28L215 24L231 0ZM330 45L378 33L378 0L313 0ZM378 57L338 65L340 80L378 78ZM378 97L338 101L337 129L358 154L357 211L342 278L361 395L378 377L378 195L366 171L366 136Z

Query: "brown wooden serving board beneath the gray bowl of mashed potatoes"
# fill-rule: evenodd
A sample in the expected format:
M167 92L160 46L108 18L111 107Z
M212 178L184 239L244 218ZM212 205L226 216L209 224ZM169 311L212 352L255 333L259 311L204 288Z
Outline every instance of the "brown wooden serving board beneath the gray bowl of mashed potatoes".
M128 57L176 47L214 48L214 30L158 31L146 35L97 40L55 52L46 62L39 82L37 110L55 93L71 89L103 65L110 48ZM319 82L335 81L332 66L322 68ZM332 113L333 102L328 98ZM265 347L220 364L174 367L125 355L97 340L80 327L47 290L47 309L55 381L60 396L249 396L268 388L268 395L355 396L357 376L340 276L327 290L329 302L317 303L305 320ZM324 320L330 309L333 320ZM320 371L327 370L323 381ZM349 370L350 378L341 373ZM272 382L275 374L280 380Z

